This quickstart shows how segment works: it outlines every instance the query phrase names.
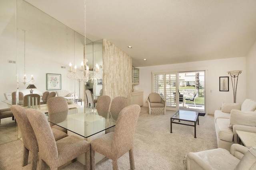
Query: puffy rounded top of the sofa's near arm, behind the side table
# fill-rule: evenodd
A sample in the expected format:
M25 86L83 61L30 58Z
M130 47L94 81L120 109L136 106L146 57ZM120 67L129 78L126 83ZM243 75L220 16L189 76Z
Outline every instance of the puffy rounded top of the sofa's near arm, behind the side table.
M233 125L247 125L256 127L256 112L232 109L230 112L230 124L228 127L232 128Z

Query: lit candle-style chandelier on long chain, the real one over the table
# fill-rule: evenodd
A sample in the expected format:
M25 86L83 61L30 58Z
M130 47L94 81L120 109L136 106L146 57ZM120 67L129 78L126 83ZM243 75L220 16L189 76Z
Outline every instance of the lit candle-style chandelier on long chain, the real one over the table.
M74 39L75 39L75 34L74 34ZM75 43L75 41L74 41ZM75 50L74 50L75 51ZM96 64L96 68L93 68L92 71L94 71L93 73L89 72L89 66L87 65L88 59L86 59L86 0L84 0L84 60L81 63L81 74L78 75L78 73L76 72L77 70L77 66L74 66L74 70L72 70L72 64L71 62L69 63L69 70L68 70L68 74L67 77L68 78L73 78L73 79L77 79L78 81L78 85L79 85L79 89L80 89L80 84L81 82L84 82L84 84L86 84L86 82L88 82L88 80L96 80L99 79L99 66L98 64ZM89 74L93 74L93 76L89 77ZM80 94L80 92L79 92Z

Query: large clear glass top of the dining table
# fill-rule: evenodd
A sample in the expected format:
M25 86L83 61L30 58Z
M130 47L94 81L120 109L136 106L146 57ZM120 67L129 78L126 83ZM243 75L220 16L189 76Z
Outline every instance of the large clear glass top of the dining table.
M82 137L90 137L116 125L110 112L84 107L48 113L48 121Z

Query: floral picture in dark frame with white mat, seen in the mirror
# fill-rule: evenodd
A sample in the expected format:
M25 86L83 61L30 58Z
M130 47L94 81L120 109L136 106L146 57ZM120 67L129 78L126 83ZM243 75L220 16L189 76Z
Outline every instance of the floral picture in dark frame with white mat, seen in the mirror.
M61 90L61 74L46 73L46 90Z

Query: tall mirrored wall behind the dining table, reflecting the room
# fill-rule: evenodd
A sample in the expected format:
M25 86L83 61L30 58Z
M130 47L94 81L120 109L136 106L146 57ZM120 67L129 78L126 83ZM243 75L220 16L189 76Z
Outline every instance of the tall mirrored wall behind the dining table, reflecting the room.
M0 67L3 70L0 99L5 100L4 93L14 92L17 87L24 95L30 94L29 84L34 84L33 93L40 95L45 91L68 90L79 96L78 82L68 78L67 73L69 63L81 66L84 36L24 0L1 0L0 10ZM102 77L102 41L86 40L86 58L92 68L91 75L95 74L93 68L98 63ZM23 83L24 71L26 83ZM49 89L46 74L60 74L61 86ZM32 75L34 82L28 82ZM94 94L100 94L102 86L100 80L94 81ZM80 96L84 100L86 85L81 88Z

